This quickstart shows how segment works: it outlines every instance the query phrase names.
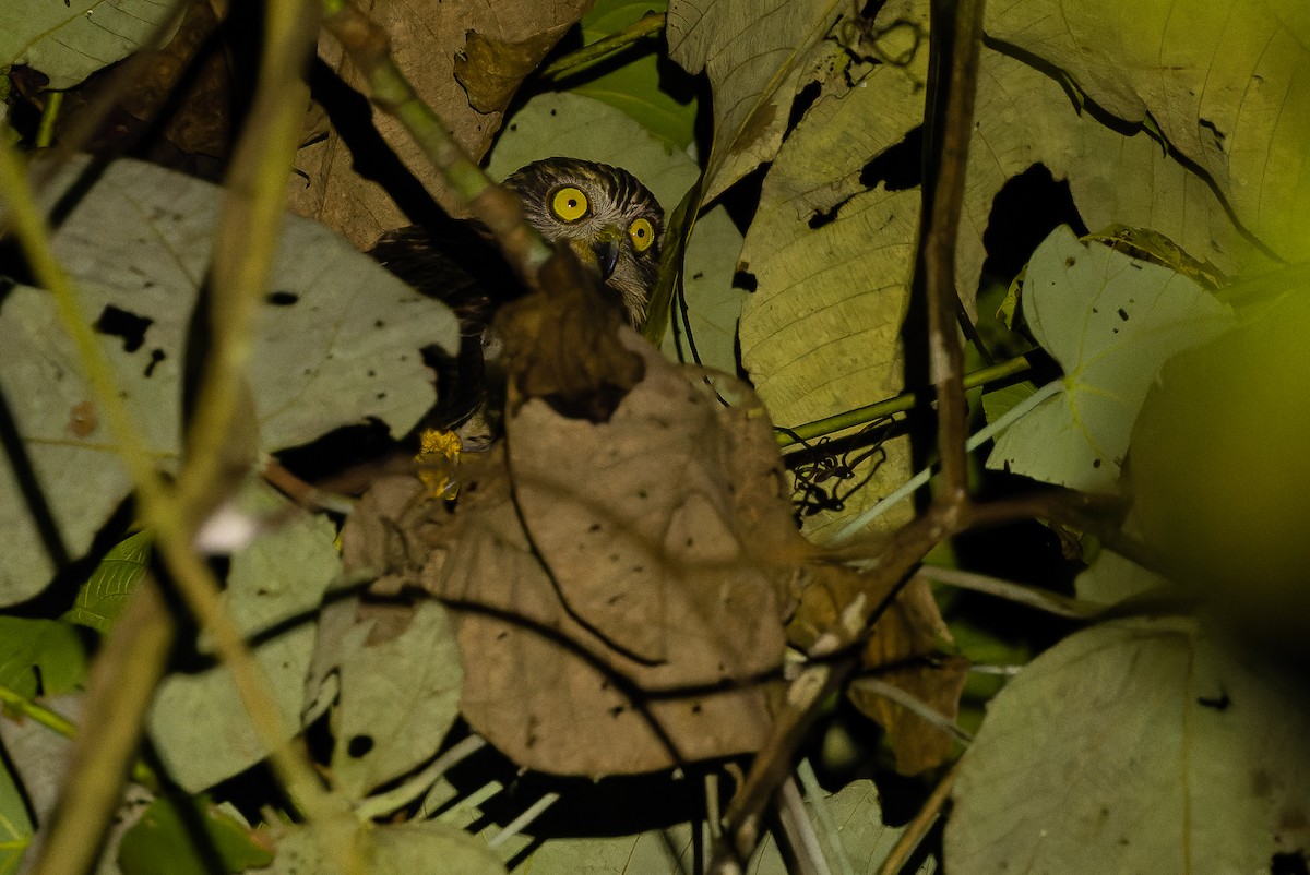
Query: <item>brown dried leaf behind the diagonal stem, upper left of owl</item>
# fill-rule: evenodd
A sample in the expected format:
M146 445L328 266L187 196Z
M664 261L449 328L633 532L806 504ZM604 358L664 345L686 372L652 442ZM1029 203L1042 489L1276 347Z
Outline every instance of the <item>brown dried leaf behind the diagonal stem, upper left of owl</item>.
M500 128L504 107L519 83L591 1L375 0L369 16L389 34L396 63L419 97L436 111L455 141L478 160ZM325 39L320 56L350 85L363 89L358 71L342 60L335 42ZM458 60L461 56L468 60ZM457 63L472 94L456 79ZM447 211L458 212L440 174L403 127L376 110L373 122L418 183ZM335 130L324 134L317 141L307 138L296 158L305 179L288 189L291 208L339 231L360 249L371 248L381 232L410 224L414 217L406 217L392 195L371 181L376 169L356 172L354 164L359 156L351 155Z

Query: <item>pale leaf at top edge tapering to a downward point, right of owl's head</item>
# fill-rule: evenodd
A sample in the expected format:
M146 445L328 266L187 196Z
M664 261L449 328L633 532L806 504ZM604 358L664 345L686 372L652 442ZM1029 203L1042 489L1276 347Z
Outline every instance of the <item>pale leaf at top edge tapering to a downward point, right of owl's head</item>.
M819 42L842 9L840 0L669 3L669 58L690 73L703 71L714 92L703 200L777 153L802 80L832 56Z

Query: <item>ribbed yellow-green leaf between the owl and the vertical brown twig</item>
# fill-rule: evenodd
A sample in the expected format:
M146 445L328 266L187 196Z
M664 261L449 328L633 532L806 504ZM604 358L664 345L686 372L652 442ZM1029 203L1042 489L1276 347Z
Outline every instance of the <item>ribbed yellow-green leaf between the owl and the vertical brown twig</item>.
M903 386L900 326L920 194L883 183L867 190L862 176L918 126L922 83L913 68L849 72L855 85L846 85L845 72L829 79L783 144L741 250L743 270L757 282L741 312L741 362L778 426L869 405ZM904 445L889 445L886 461L870 457L857 477L875 464L874 479L844 511L808 519L810 534L827 537L910 474Z

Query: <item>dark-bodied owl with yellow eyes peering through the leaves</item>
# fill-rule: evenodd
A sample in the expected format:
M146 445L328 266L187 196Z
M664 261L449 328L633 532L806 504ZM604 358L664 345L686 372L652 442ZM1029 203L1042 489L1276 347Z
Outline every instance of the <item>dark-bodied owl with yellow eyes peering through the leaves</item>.
M528 223L552 244L567 245L614 292L627 321L641 326L659 274L664 223L650 190L621 168L576 158L534 161L510 174L504 186L523 199ZM487 326L495 309L521 291L500 253L468 223L448 221L389 231L369 254L461 318L458 355L430 362L447 388L443 409L430 422L453 423L485 409L496 382L486 368L498 355Z

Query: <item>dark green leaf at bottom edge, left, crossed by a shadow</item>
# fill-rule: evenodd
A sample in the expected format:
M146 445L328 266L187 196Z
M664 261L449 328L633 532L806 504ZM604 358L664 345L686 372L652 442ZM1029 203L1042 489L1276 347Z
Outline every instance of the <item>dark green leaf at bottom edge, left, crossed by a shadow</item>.
M190 811L183 817L179 807ZM204 829L207 844L196 846L191 828ZM123 833L118 866L123 875L212 875L267 866L272 850L267 834L224 812L207 796L156 798Z

